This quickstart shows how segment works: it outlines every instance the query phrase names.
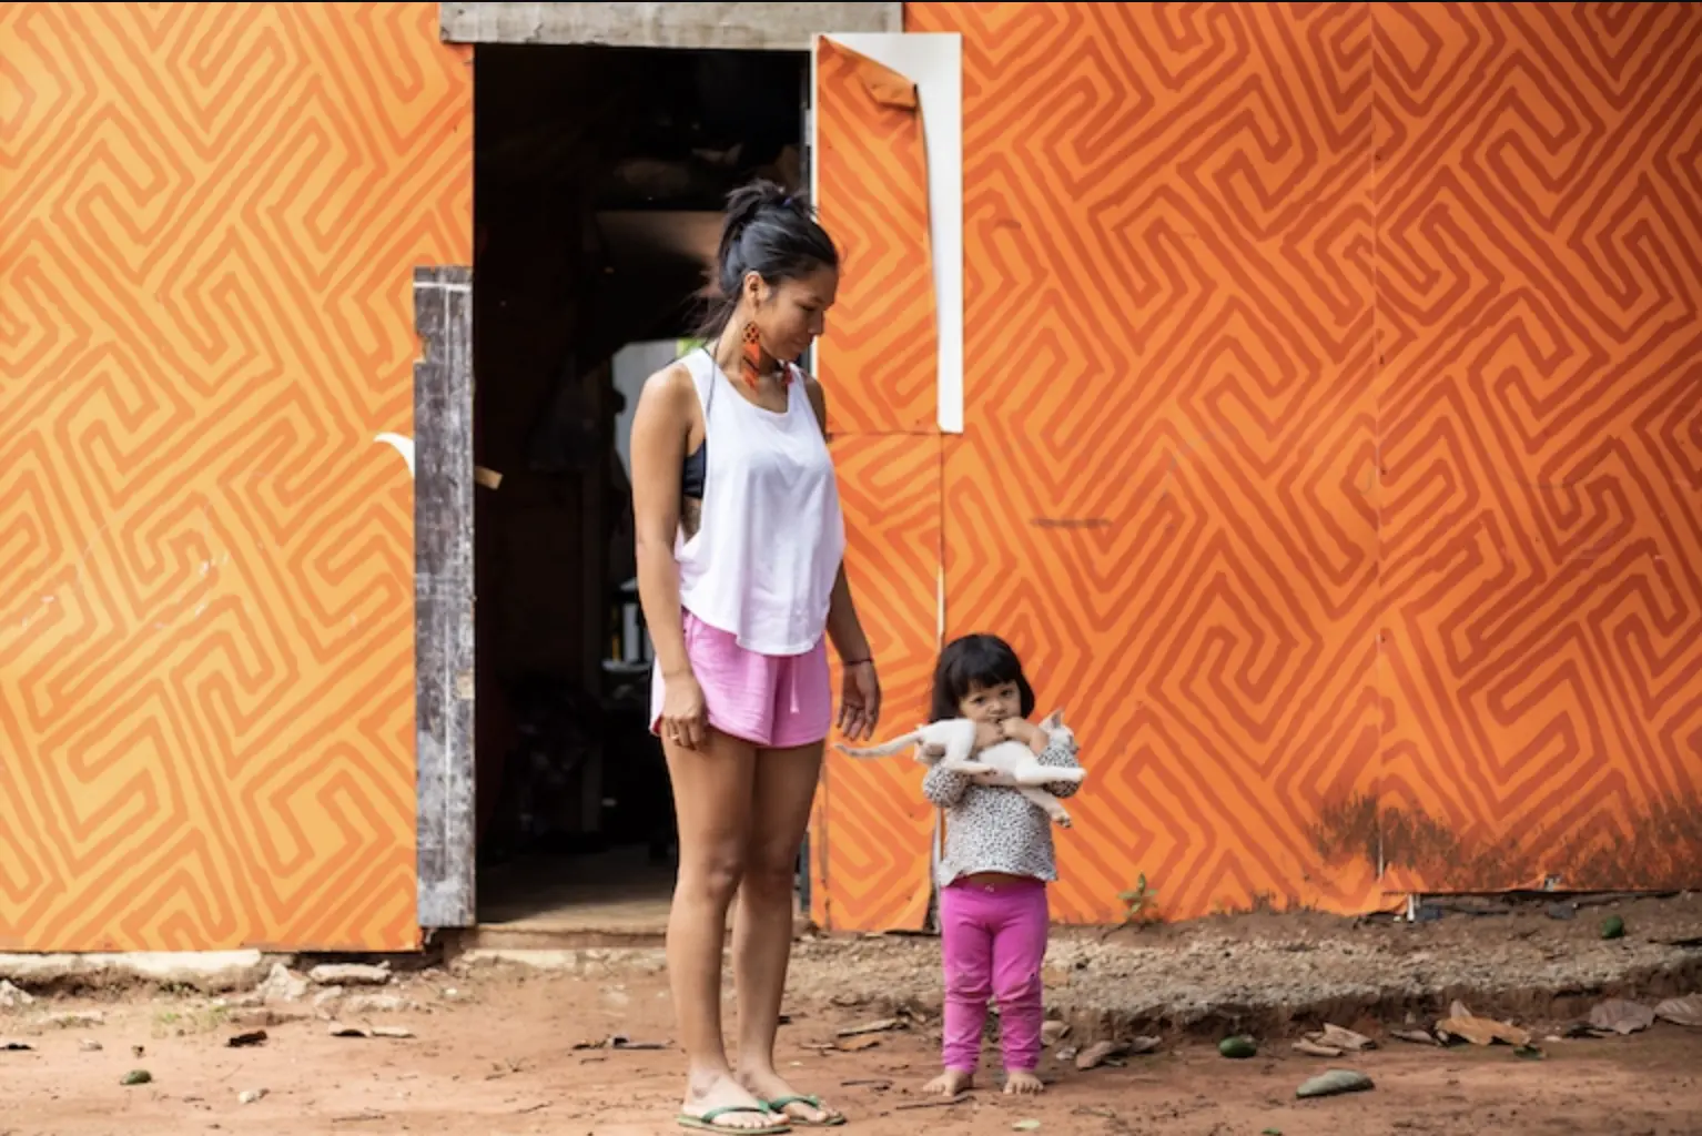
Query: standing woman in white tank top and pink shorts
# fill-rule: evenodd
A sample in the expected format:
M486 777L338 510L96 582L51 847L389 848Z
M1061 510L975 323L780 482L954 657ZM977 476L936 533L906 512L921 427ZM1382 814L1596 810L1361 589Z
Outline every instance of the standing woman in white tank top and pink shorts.
M832 724L871 738L880 684L846 583L822 388L790 359L822 333L839 253L808 207L757 182L728 202L706 345L633 412L638 592L655 643L652 731L679 818L667 969L689 1073L686 1127L842 1124L774 1070L793 872ZM734 920L737 1066L722 1041Z

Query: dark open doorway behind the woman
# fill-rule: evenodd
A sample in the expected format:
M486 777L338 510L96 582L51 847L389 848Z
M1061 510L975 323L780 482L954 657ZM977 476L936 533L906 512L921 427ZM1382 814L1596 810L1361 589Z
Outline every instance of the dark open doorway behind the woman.
M478 922L659 934L667 772L631 410L688 349L727 194L805 184L807 53L480 46L473 78Z

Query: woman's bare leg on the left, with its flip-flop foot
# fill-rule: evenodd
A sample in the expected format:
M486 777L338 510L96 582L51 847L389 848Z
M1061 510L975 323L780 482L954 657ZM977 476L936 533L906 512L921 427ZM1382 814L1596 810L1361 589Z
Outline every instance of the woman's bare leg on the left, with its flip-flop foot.
M686 1049L683 1110L747 1107L725 1114L717 1127L768 1127L773 1117L757 1109L732 1075L722 1039L722 949L727 910L749 864L756 752L747 741L710 730L703 750L664 743L679 823L679 874L667 913L667 978Z

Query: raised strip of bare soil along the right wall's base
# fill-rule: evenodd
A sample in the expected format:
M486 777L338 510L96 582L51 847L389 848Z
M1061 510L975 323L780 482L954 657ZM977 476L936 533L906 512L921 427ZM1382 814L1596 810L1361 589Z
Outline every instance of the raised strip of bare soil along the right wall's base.
M1290 1036L1324 1020L1435 1019L1464 998L1479 1014L1571 1020L1610 995L1702 990L1702 896L1433 900L1430 922L1253 913L1106 935L1055 929L1048 1005L1091 1037L1227 1031ZM1554 910L1551 910L1554 908ZM1562 912L1564 908L1566 912ZM1568 913L1568 918L1556 915ZM1620 939L1603 939L1608 918ZM795 986L873 1007L940 1005L928 937L805 940Z

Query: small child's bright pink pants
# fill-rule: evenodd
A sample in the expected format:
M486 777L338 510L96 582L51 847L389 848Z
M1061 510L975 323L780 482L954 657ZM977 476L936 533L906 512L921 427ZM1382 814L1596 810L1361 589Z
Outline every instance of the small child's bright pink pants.
M1038 879L994 889L958 881L940 893L946 963L941 1056L948 1070L974 1073L980 1065L989 997L999 1005L1006 1071L1038 1068L1048 923L1047 886Z

